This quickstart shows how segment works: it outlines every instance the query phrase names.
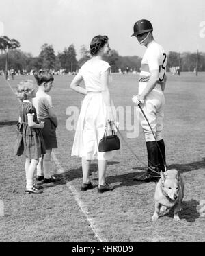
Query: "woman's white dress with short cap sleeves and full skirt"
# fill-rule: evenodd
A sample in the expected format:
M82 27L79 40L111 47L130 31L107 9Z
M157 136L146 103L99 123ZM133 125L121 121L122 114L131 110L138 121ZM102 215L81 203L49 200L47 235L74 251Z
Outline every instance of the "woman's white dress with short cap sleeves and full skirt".
M87 95L83 100L77 128L74 135L71 156L85 157L87 160L109 160L115 151L98 152L98 143L105 132L107 109L102 99L100 76L110 66L103 60L88 60L79 70L85 82ZM111 101L115 116L115 107Z

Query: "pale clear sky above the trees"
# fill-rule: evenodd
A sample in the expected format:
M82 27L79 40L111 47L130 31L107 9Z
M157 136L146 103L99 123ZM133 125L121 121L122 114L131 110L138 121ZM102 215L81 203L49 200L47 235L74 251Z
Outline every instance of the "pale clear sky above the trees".
M121 56L143 56L145 48L131 37L139 19L151 21L165 51L205 52L204 0L0 0L0 32L33 56L44 43L55 54L73 43L79 58L81 45L89 49L98 34Z

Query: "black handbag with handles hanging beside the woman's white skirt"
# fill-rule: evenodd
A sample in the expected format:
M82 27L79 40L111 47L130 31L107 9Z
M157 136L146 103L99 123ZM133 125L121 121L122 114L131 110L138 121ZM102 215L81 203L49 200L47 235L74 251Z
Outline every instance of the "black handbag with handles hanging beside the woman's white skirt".
M107 136L108 126L111 128L112 135ZM115 134L113 127L111 125L111 121L107 121L107 127L105 128L104 135L102 139L100 139L98 145L99 152L107 152L112 150L119 150L120 149L120 139Z

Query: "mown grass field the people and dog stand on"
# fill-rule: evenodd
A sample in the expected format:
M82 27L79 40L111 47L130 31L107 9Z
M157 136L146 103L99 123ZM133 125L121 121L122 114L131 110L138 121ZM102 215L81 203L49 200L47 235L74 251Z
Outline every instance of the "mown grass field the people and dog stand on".
M15 88L19 80L10 80ZM119 154L109 161L107 181L113 191L98 194L97 189L81 192L81 159L71 157L74 131L66 130L66 108L81 106L82 95L70 90L72 76L55 77L51 91L59 126L59 148L53 150L59 165L52 161L52 173L61 177L55 185L44 187L40 195L24 194L23 156L12 155L16 138L18 101L4 78L0 77L0 242L205 242L202 202L205 199L205 74L168 74L165 90L164 139L168 169L176 167L185 183L180 222L173 212L152 221L155 183L133 181L144 170L123 141ZM111 95L115 106L133 106L137 94L137 75L113 74ZM33 79L30 77L30 79ZM134 115L134 113L133 113ZM126 131L122 131L126 137ZM126 139L141 161L146 162L143 133ZM61 174L59 173L61 169ZM64 171L62 173L62 170ZM92 163L91 179L97 186L98 168Z

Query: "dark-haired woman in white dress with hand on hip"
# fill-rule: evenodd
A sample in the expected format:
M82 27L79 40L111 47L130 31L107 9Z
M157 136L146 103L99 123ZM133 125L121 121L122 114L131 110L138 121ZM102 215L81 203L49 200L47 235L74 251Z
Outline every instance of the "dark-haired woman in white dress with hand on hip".
M87 60L74 77L70 88L86 95L74 136L72 156L82 158L83 184L81 190L86 191L94 186L90 182L89 169L91 160L98 160L98 192L113 189L105 182L107 160L114 152L99 152L98 143L105 132L107 120L114 121L113 102L109 93L110 65L102 60L102 55L110 50L107 36L95 36L90 43L92 58ZM85 89L79 84L84 80Z

